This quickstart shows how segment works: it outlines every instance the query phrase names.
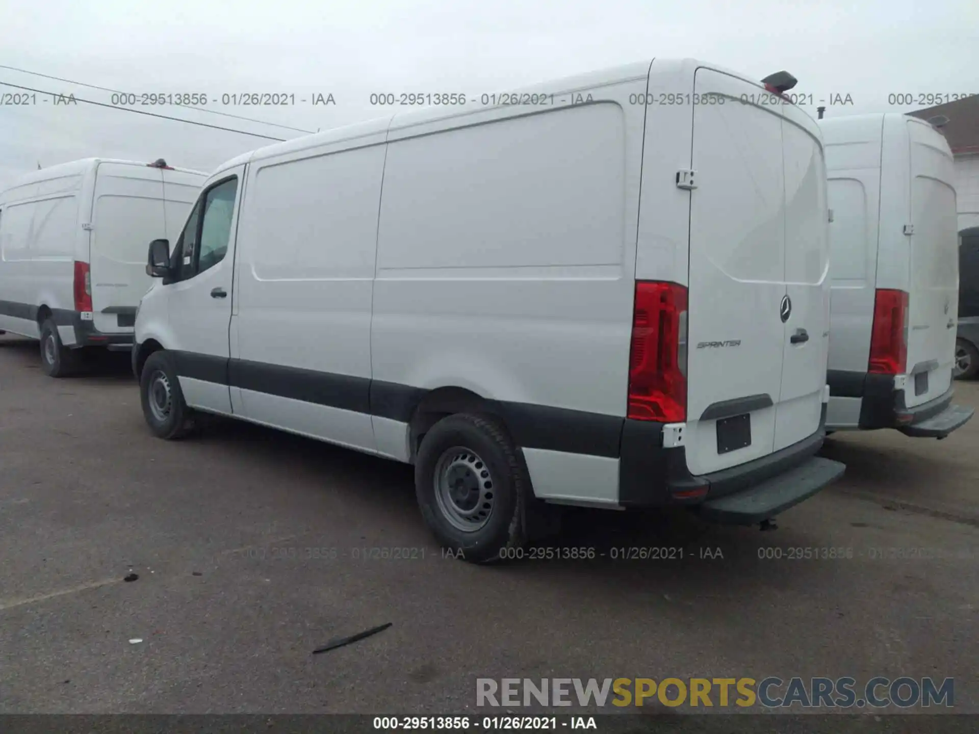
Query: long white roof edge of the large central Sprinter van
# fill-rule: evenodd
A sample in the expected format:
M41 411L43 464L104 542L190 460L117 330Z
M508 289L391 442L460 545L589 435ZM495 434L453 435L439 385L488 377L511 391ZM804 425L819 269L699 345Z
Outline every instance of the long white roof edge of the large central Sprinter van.
M630 79L643 78L649 73L650 66L654 61L656 61L657 67L664 65L665 67L673 69L679 69L681 67L691 70L697 69L698 67L716 69L718 71L731 74L732 76L736 76L751 84L755 84L759 88L764 88L762 82L757 79L749 79L737 71L719 67L714 64L705 64L697 61L696 59L647 59L645 61L633 62L631 64L621 65L618 67L598 69L596 71L588 71L581 74L575 74L573 76L550 79L537 83L533 86L496 91L516 92L520 94L573 94L579 90L593 90L595 87L617 84L623 81L629 81ZM384 117L375 117L362 122L355 122L342 127L335 127L322 132L312 133L311 135L301 135L281 143L273 143L272 145L257 148L254 151L237 156L230 161L225 161L213 171L211 176L216 176L228 168L234 168L235 166L251 161L260 161L273 156L296 153L327 143L339 143L354 138L384 133L388 129L410 127L412 125L446 119L448 117L472 115L486 109L488 108L483 106L469 109L429 107L421 110L409 110L407 112L396 113L394 115L386 115Z

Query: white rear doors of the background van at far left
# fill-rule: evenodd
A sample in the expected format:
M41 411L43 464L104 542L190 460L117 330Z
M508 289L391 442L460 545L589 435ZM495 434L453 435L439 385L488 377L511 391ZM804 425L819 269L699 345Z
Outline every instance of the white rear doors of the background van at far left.
M166 236L162 171L132 163L100 163L91 221L95 328L109 334L131 330L134 310L152 283L146 274L147 248L152 240Z

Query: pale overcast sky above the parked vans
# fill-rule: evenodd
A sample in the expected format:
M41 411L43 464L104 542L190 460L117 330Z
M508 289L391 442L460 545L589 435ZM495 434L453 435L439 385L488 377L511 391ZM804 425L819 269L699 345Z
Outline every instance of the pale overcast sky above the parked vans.
M207 109L315 131L390 111L372 107L371 93L479 95L693 57L754 78L786 69L799 79L793 91L827 103L849 94L854 104L827 106L830 116L920 109L889 105L894 93L979 93L977 27L975 0L0 0L0 65L136 94L206 93L217 99ZM112 103L110 92L11 69L0 68L0 81ZM296 104L219 104L242 92L295 94ZM4 93L23 90L0 85ZM336 105L308 102L331 93ZM138 109L302 134L179 107ZM269 142L37 95L0 106L0 189L38 161L162 157L210 171Z

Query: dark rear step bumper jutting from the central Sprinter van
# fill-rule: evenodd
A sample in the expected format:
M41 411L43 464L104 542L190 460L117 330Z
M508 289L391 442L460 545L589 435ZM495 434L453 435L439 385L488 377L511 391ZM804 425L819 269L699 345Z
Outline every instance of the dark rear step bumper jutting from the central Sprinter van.
M725 525L755 525L812 497L846 470L838 461L814 456L783 474L735 494L708 499L697 507L705 520Z

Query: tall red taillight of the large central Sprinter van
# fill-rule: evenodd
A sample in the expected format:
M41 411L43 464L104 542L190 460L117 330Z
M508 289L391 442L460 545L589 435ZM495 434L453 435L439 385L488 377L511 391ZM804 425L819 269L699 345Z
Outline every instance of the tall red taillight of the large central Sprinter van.
M627 416L686 420L686 289L676 283L635 284Z

